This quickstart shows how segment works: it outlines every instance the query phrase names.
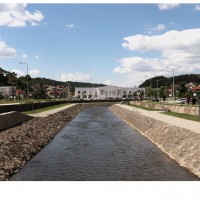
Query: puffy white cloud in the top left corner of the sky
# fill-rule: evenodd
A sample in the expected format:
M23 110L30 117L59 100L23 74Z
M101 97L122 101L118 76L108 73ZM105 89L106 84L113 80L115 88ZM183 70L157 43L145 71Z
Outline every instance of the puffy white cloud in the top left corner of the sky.
M0 26L24 27L38 25L44 19L44 15L35 10L26 10L27 4L1 4L0 7Z

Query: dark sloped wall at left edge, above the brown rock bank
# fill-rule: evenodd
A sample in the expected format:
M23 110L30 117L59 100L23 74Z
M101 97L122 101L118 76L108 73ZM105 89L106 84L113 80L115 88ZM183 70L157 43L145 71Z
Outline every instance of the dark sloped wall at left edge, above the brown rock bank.
M8 128L17 126L23 122L26 122L33 117L28 115L23 115L20 112L8 112L0 114L0 131L6 130Z

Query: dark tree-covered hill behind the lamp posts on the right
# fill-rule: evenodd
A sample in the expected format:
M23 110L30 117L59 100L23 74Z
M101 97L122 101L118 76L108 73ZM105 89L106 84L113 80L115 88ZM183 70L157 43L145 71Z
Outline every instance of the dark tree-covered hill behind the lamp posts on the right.
M139 87L148 87L150 86L151 82L151 87L156 88L157 84L158 86L167 86L170 87L170 85L173 82L173 77L164 77L164 76L156 76L154 78L149 78L145 82L143 82ZM196 83L197 85L200 84L200 74L185 74L185 75L179 75L179 76L174 76L174 83L179 84L179 83Z

